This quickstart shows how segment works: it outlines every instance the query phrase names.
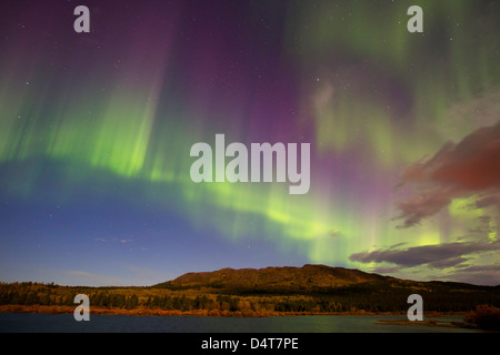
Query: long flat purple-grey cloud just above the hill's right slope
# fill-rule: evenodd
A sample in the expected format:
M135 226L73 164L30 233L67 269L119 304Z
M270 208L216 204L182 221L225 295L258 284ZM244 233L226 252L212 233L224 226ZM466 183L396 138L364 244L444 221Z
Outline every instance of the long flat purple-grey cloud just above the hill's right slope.
M493 243L446 243L413 246L407 250L379 250L354 253L349 258L360 263L392 263L403 267L428 264L444 268L467 261L464 255L500 250L500 242Z

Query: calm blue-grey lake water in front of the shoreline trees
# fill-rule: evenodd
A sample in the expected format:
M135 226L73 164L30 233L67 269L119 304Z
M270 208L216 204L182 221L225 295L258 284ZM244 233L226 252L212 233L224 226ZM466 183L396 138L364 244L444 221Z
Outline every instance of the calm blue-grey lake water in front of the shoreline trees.
M378 321L406 316L290 316L264 318L92 315L77 322L72 314L0 314L0 333L477 333L467 328L384 325ZM432 317L462 321L462 316Z

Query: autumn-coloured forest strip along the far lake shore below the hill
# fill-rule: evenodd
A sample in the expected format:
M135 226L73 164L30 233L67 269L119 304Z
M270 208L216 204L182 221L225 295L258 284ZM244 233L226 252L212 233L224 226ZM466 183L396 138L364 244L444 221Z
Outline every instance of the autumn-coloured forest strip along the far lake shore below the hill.
M13 283L0 284L0 305L76 306L74 296L87 294L91 307L181 311L196 310L220 312L403 312L408 296L418 293L426 311L469 312L478 305L500 306L498 291L412 290L392 287L376 291L343 288L320 295L226 295L167 291L150 287L70 287L53 284Z

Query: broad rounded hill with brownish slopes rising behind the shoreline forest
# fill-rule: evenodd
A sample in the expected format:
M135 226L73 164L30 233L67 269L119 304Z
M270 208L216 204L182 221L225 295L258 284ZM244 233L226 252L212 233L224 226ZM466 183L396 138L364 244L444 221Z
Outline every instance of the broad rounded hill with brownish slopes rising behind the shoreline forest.
M222 268L212 272L187 273L176 280L153 285L156 288L207 288L230 294L324 294L342 291L413 288L427 291L492 291L496 287L452 282L417 282L366 273L356 268L326 265L302 267ZM498 287L497 287L498 288Z

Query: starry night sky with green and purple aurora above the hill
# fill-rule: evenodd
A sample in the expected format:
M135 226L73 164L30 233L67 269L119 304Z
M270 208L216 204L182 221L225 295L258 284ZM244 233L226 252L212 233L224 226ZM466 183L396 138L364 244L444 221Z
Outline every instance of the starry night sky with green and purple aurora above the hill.
M77 33L77 6L90 33ZM423 32L410 33L410 6ZM0 281L326 264L500 284L500 2L2 1ZM310 143L310 190L194 183Z

